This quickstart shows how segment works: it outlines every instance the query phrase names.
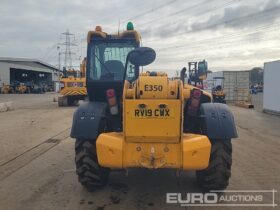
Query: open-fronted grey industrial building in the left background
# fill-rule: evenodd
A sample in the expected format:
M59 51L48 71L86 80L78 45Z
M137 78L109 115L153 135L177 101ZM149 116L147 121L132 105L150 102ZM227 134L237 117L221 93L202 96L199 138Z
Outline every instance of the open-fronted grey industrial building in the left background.
M59 69L36 59L0 57L0 87L15 82L54 89L59 82Z

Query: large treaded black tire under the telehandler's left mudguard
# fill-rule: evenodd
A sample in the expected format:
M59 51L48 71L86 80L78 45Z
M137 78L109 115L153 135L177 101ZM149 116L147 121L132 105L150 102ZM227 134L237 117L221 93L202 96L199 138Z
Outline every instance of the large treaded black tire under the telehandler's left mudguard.
M95 141L76 140L76 173L79 182L88 190L94 191L104 186L110 170L98 164Z

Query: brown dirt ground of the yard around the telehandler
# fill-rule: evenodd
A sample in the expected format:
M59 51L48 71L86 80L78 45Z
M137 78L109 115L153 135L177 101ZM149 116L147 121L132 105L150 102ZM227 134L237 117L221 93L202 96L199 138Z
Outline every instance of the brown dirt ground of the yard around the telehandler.
M58 108L54 96L0 95L0 102L14 101L16 107L0 113L0 209L247 209L167 204L166 193L200 192L193 171L180 176L173 170L115 171L107 186L87 192L75 174L74 140L69 137L75 108ZM239 138L232 141L227 190L279 190L280 117L230 108ZM275 202L280 202L279 192Z

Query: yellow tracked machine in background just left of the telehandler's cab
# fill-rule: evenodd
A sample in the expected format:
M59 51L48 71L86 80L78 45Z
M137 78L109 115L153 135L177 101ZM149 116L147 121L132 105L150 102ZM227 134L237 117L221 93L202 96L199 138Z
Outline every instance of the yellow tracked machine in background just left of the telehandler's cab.
M59 106L77 105L79 100L84 100L87 96L86 90L86 58L80 65L80 71L64 69L60 78L60 94L58 97Z

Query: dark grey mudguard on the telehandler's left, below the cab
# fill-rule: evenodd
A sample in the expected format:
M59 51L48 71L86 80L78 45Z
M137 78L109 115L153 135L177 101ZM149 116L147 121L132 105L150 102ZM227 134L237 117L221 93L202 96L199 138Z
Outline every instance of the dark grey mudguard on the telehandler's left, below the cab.
M81 104L74 113L70 136L76 139L96 139L106 107L107 104L101 102Z

